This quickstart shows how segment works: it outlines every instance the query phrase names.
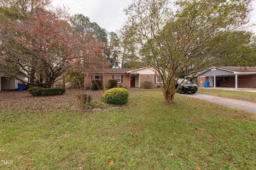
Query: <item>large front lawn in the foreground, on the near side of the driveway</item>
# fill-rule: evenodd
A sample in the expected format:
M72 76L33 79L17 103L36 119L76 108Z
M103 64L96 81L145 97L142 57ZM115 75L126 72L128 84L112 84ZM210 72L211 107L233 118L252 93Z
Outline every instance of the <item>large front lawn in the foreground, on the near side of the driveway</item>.
M256 115L161 91L130 91L112 111L8 111L0 164L9 169L254 169ZM110 160L114 160L110 164Z

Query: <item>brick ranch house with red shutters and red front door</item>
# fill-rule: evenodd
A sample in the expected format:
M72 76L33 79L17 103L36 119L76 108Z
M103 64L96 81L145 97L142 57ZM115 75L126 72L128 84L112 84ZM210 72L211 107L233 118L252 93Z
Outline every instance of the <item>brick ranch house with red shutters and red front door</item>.
M92 81L95 79L103 80L108 85L109 79L116 79L118 87L124 88L142 88L145 81L151 81L156 88L159 85L160 78L156 76L153 69L150 67L143 67L140 69L132 68L105 68L101 71L88 71L84 73L85 89L90 89Z

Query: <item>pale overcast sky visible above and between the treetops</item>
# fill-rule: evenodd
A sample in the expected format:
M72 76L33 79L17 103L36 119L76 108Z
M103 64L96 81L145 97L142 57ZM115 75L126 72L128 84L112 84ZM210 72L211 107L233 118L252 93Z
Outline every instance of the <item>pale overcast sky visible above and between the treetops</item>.
M122 28L126 17L124 8L131 3L132 0L53 0L54 6L64 4L70 8L72 15L83 14L90 18L90 22L96 22L108 32L116 32ZM252 14L251 21L256 23L256 9ZM252 29L256 33L256 26Z

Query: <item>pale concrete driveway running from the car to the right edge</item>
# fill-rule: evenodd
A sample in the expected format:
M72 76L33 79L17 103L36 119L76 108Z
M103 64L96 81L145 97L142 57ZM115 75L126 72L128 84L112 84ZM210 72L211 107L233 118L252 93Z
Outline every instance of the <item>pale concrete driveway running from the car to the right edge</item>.
M236 109L240 109L243 111L247 111L250 113L255 113L256 114L256 103L251 103L248 101L241 101L241 100L236 100L236 99L229 99L225 97L218 97L218 96L213 96L213 95L206 95L206 94L201 94L201 93L194 93L194 94L182 94L187 97L192 97L195 99L201 99L204 101L216 103L218 105L223 105L227 107L233 107Z

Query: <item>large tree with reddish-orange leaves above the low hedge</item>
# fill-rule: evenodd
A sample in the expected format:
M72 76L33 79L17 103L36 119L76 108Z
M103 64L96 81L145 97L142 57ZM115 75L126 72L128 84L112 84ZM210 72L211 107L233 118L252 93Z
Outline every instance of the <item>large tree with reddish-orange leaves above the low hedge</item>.
M14 79L19 74L31 85L52 87L62 73L101 65L101 43L78 34L64 8L51 0L0 2L0 72Z

